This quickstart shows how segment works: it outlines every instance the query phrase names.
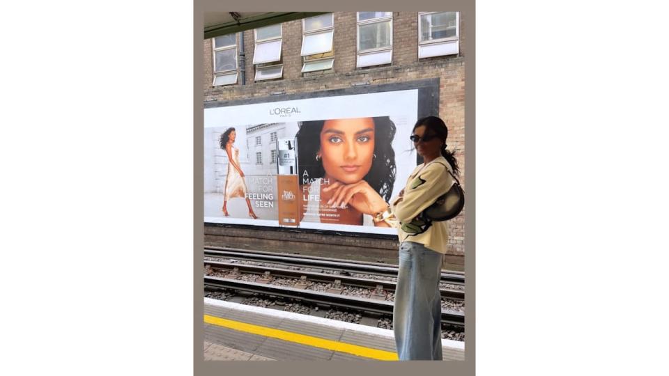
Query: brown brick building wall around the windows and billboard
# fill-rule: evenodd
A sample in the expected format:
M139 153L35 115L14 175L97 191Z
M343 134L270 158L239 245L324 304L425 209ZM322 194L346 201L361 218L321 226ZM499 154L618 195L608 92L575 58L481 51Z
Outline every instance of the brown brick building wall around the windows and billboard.
M464 17L460 19L460 54L458 56L439 56L418 61L418 17L415 12L393 13L393 52L392 65L371 68L355 68L356 61L356 22L355 13L334 13L334 72L314 77L302 77L302 21L295 20L282 24L283 46L282 59L284 77L272 81L254 82L253 31L245 31L246 84L233 86L211 86L212 54L211 42L205 40L203 91L206 101L240 100L251 97L266 97L275 91L286 94L309 93L335 88L349 88L351 84L369 81L371 85L390 84L417 79L439 78L439 113L445 120L449 136L449 150L456 149L456 157L461 167L461 183L464 189L466 180L464 171L465 143L465 36L463 32ZM241 81L239 80L241 83ZM464 253L464 216L449 221L449 251L452 256L463 256ZM207 232L207 227L205 228ZM220 231L220 230L217 230ZM252 230L248 230L251 231ZM314 235L314 242L316 242ZM253 237L249 235L249 237ZM308 238L308 236L307 236ZM352 246L365 246L364 239L352 240ZM320 241L318 241L320 242ZM350 245L351 245L350 244ZM390 247L392 248L392 247Z

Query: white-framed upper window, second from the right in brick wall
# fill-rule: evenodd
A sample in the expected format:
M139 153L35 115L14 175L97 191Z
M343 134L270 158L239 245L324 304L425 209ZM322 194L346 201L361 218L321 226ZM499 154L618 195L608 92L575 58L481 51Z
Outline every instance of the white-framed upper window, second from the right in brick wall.
M392 62L392 12L357 12L357 68Z

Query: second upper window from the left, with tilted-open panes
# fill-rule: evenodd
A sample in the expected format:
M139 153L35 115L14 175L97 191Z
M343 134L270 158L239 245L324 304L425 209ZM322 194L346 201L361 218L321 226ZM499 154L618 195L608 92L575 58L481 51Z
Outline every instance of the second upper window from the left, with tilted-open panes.
M254 29L255 47L253 63L256 67L256 81L283 77L284 65L281 61L281 24Z

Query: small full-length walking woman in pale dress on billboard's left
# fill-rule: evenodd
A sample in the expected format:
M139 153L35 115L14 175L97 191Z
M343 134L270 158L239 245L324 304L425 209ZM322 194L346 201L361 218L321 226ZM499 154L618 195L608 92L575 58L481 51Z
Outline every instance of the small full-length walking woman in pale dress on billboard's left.
M246 182L244 180L244 171L239 164L239 149L233 146L237 132L235 128L228 128L220 138L220 146L228 155L228 174L225 177L225 196L223 198L223 214L229 217L227 210L227 203L231 198L242 197L246 198L246 205L249 207L249 217L256 219L256 214L253 212L251 201L246 197L248 191Z

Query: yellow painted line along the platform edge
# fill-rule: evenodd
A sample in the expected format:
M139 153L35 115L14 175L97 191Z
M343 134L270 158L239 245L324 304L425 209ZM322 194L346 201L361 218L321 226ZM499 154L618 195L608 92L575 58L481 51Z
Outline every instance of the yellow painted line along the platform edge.
M384 361L399 360L396 352L373 349L371 347L364 347L353 345L351 343L339 342L337 340L328 340L325 338L318 338L314 336L306 336L305 334L293 333L292 331L284 331L268 327L261 327L260 325L247 324L246 322L228 320L224 318L217 318L211 315L204 315L204 322L213 324L218 327L233 329L236 331L244 331L245 333L257 334L259 336L266 336L269 338L277 338L279 340L286 340L293 343L300 343L312 347L320 347L325 350L332 350L337 352L346 352L358 357L365 357Z

